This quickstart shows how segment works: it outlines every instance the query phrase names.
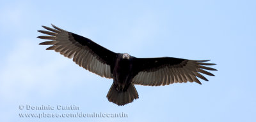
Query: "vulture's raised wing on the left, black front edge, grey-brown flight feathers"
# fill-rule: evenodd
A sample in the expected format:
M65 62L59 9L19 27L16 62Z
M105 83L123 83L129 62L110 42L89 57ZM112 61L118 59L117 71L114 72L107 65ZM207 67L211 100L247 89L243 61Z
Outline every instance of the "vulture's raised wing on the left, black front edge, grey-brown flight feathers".
M114 64L116 53L110 51L92 40L60 29L54 25L54 29L42 26L47 30L38 30L48 36L38 36L40 39L50 39L40 43L41 45L52 45L46 50L55 50L68 58L73 58L77 65L87 69L99 76L113 78L111 65Z

